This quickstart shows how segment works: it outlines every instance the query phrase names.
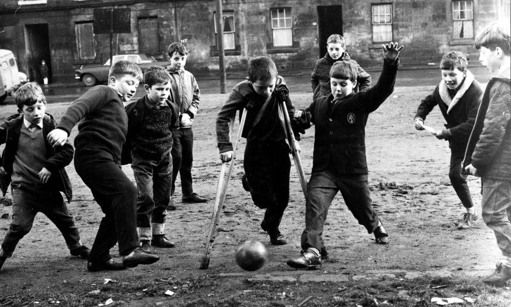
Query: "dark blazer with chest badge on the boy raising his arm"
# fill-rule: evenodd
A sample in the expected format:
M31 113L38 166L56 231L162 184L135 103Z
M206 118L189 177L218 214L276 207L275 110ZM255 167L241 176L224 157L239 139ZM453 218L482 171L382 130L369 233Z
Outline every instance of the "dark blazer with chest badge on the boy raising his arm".
M333 167L339 174L367 174L365 125L394 91L398 63L385 60L380 79L366 92L351 93L333 107L332 94L319 97L305 109L316 125L313 172Z

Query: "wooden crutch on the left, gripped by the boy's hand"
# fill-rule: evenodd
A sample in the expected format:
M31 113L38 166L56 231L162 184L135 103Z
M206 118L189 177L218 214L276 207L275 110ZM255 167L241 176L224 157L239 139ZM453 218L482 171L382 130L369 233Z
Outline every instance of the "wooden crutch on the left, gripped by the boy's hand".
M236 114L231 119L230 128L231 131L234 128L234 119L236 118ZM211 223L209 225L209 233L208 239L206 241L206 247L204 249L204 256L201 261L201 269L209 268L209 259L211 257L211 250L213 249L213 242L215 241L216 235L216 227L218 226L218 222L220 220L220 215L224 210L224 200L226 198L227 185L229 183L229 179L231 179L232 169L234 167L234 161L236 157L236 150L238 149L239 141L241 140L241 134L243 132L243 126L245 126L245 119L247 118L247 109L243 108L241 114L241 120L239 122L238 128L238 136L236 137L236 141L234 143L234 147L232 150L232 158L230 162L223 162L220 167L220 176L218 177L218 186L216 188L216 198L215 204L213 205L213 214L211 216ZM227 172L227 174L226 174Z

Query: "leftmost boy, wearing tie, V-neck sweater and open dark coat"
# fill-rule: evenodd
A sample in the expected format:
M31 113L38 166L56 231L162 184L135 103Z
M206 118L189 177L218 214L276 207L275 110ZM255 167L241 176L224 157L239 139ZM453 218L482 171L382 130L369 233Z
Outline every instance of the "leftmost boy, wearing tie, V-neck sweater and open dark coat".
M82 245L73 215L60 194L62 191L71 202L71 182L64 167L73 160L73 146L64 141L53 150L46 141L56 123L46 113L46 98L37 83L19 87L14 101L19 114L0 125L0 144L6 144L0 157L0 176L5 189L11 183L12 192L12 222L0 248L0 268L32 229L37 212L57 226L71 255L86 259L90 250ZM6 190L2 192L5 195Z

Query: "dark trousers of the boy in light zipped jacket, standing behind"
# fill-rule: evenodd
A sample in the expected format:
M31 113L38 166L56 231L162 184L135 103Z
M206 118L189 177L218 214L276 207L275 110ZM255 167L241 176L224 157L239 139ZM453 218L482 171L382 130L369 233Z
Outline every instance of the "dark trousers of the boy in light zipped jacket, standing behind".
M175 179L179 171L181 177L181 191L183 196L193 192L192 187L192 163L193 163L193 131L192 128L177 129L172 133L172 188L170 194L174 194Z

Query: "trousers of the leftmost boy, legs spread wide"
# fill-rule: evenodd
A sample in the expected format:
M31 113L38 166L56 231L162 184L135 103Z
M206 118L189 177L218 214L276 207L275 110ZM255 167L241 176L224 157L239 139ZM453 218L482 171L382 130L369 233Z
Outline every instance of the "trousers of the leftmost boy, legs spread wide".
M47 189L47 188L46 188ZM58 191L46 191L12 182L12 222L2 243L0 256L10 257L19 240L32 229L37 212L45 214L62 233L70 250L81 247L80 234Z

